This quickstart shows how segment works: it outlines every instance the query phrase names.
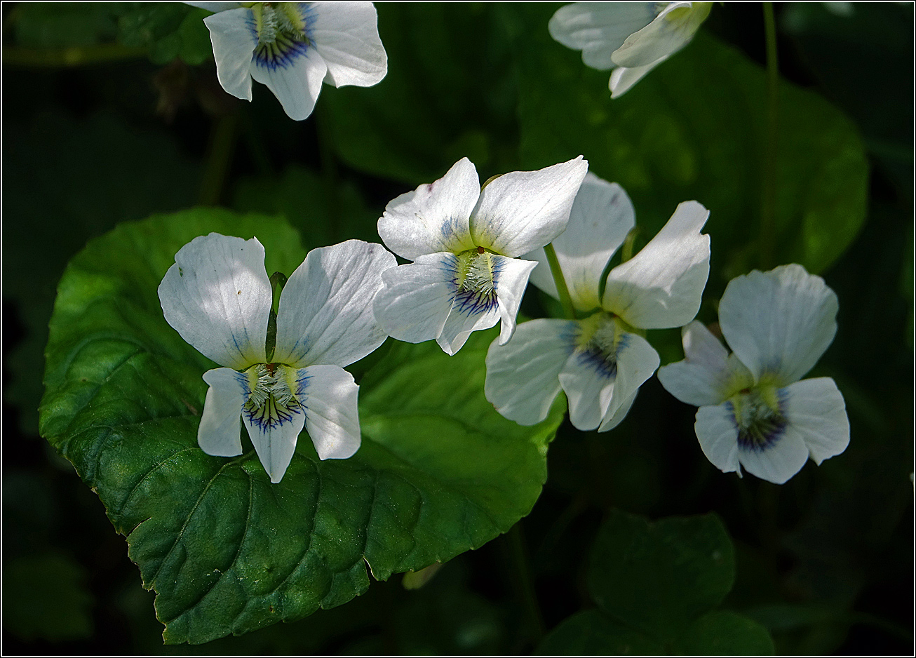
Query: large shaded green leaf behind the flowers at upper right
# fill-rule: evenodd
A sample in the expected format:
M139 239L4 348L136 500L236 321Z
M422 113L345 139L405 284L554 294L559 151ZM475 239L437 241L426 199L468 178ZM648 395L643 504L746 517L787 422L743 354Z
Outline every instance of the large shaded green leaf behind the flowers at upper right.
M700 34L612 100L609 73L589 69L578 51L550 38L553 10L507 10L518 24L523 168L581 153L590 170L624 186L647 236L678 203L696 199L712 211L707 230L724 280L767 265L757 259L765 72ZM774 256L817 272L845 251L865 219L867 160L855 127L833 105L789 82L779 93Z

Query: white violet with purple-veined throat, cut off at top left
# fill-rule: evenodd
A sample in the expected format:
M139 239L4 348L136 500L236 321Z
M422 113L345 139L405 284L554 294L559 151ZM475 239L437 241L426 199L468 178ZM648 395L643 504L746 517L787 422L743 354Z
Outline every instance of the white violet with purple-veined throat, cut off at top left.
M322 82L371 87L387 73L370 2L188 4L216 12L203 22L224 90L250 101L254 78L298 121L311 115Z

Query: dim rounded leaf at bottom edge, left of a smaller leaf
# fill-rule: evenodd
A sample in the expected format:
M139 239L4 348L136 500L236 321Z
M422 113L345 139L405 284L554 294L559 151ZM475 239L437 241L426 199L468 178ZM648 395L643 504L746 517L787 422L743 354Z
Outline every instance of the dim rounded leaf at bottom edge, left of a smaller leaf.
M541 655L659 655L661 642L610 620L600 610L583 610L540 642Z

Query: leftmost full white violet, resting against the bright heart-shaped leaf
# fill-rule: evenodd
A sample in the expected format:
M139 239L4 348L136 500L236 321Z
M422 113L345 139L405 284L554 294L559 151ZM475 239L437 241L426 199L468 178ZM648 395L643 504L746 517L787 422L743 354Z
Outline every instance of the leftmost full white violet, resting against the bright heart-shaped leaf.
M348 240L312 249L280 294L275 346L267 345L273 292L253 237L195 237L159 284L171 326L224 367L210 385L197 441L208 455L242 454L239 417L271 482L279 482L303 426L318 456L359 448L359 389L343 366L381 345L372 315L381 273L396 264L381 245Z

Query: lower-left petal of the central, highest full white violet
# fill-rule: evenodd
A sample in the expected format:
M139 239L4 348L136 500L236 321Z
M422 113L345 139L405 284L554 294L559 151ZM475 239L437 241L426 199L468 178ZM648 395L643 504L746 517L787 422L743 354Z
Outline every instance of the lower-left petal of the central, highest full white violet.
M373 312L388 335L408 343L438 338L452 310L454 254L420 256L382 272Z

